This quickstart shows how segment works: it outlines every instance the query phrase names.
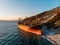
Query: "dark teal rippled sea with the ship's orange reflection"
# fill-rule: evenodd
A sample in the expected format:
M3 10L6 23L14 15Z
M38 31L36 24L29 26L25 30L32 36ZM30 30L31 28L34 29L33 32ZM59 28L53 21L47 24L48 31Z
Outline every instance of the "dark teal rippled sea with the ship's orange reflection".
M51 45L40 35L17 28L17 21L0 21L0 45Z

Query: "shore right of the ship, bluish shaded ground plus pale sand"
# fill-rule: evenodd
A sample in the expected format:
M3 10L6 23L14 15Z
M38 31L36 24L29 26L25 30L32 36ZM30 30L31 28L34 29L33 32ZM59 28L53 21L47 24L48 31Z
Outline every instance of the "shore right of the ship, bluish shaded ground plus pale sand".
M60 45L60 27L48 29L46 26L42 28L44 38L48 39L54 45Z

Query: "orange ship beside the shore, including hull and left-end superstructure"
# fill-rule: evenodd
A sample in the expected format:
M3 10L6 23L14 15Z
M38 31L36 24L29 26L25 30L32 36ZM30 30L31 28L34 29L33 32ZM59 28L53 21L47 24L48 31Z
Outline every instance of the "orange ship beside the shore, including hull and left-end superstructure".
M18 28L20 30L26 31L28 33L32 33L32 34L37 34L37 35L42 35L42 31L40 29L36 29L36 28L31 28L31 26L29 26L28 24L26 24L26 22L24 22L23 20L21 20L19 18L18 21Z

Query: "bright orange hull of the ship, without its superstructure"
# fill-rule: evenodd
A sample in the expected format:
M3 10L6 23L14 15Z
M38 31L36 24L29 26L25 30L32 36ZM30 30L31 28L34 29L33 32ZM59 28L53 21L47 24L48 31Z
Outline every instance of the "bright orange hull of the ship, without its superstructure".
M32 29L27 25L22 25L22 24L18 24L18 28L26 31L28 33L33 33L33 34L37 34L37 35L42 35L42 31L40 29Z

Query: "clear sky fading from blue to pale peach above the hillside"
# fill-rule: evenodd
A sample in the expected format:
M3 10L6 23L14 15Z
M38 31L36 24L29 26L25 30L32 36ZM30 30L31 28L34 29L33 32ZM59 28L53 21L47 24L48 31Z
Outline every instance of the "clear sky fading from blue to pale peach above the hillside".
M30 17L60 6L60 0L0 0L0 20Z

